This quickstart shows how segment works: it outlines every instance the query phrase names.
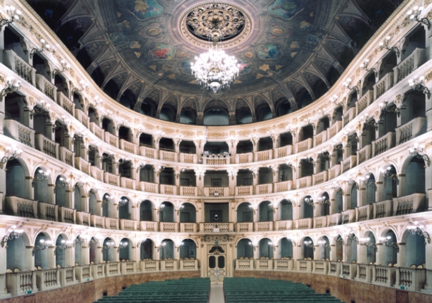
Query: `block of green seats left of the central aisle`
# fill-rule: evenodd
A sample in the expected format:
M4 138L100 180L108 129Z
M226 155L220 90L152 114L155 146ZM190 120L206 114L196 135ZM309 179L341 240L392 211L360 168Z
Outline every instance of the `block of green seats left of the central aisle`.
M151 281L133 284L116 296L102 297L97 302L133 303L208 303L209 278ZM93 302L95 303L95 302Z

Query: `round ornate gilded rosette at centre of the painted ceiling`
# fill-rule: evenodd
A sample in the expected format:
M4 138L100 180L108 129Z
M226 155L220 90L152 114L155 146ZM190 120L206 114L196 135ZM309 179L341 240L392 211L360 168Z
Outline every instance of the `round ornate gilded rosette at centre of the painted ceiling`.
M216 35L218 46L238 45L250 34L250 17L227 3L205 3L188 10L180 20L180 31L193 45L209 47Z

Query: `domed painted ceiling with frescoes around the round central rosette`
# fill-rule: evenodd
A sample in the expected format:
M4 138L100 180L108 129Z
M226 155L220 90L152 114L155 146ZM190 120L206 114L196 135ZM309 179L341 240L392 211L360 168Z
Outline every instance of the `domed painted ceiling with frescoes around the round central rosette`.
M182 34L182 16L205 1L27 1L114 99L125 92L145 98L154 88L211 98L190 69L206 47ZM239 96L279 86L288 99L302 91L319 98L325 90L317 87L335 83L395 9L392 2L229 1L250 18L251 27L239 43L225 45L241 71L224 93Z

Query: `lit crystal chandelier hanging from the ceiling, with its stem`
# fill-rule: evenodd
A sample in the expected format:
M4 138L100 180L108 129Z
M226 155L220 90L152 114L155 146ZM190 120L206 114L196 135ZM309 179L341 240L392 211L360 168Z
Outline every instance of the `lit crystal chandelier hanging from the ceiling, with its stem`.
M218 38L223 35L219 30L219 20L212 21L213 45L209 52L195 56L195 63L191 63L192 74L199 84L211 88L216 93L224 86L230 86L239 75L239 64L234 56L228 56L217 45Z

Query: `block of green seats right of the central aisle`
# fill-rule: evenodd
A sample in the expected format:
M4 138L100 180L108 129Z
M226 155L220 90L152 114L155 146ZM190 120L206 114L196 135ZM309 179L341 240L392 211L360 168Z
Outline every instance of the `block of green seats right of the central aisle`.
M302 283L283 280L225 278L223 292L225 303L343 303Z

